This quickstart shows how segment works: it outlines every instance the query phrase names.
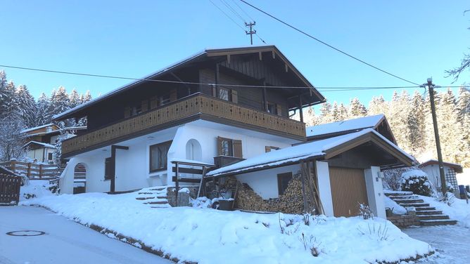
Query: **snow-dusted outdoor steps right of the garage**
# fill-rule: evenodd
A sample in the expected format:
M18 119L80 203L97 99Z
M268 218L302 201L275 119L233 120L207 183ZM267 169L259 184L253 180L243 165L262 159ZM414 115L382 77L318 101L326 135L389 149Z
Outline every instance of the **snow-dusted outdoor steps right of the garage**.
M457 223L456 220L450 220L449 216L443 214L442 211L436 210L436 207L426 204L423 199L419 199L419 196L412 192L393 192L386 193L386 195L400 206L414 207L421 225L455 225Z

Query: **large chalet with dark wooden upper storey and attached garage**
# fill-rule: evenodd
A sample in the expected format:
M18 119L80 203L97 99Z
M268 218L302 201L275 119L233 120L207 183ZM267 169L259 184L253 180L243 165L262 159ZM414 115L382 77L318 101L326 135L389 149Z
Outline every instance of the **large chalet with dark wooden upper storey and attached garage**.
M345 208L335 213L331 199L343 189L331 190L360 180L352 195L379 204L381 216L380 166L407 166L411 159L380 125L379 132L367 126L305 143L302 112L300 121L290 117L324 101L275 46L205 50L56 115L56 121L87 117L87 129L62 143L69 161L61 191L72 193L77 168L84 168L86 192L199 186L202 174L214 183L235 177L269 199L284 191L289 173L316 166L315 178L306 179L319 186L326 214L355 214L357 201L343 206L343 200L336 204ZM336 182L330 165L338 168ZM219 169L205 171L212 167Z

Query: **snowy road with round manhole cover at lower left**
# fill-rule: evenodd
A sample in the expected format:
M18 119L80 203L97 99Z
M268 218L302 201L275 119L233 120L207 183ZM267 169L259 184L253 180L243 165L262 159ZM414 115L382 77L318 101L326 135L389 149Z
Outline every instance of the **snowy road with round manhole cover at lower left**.
M6 232L38 230L36 237ZM32 206L0 206L0 263L171 263L134 246Z

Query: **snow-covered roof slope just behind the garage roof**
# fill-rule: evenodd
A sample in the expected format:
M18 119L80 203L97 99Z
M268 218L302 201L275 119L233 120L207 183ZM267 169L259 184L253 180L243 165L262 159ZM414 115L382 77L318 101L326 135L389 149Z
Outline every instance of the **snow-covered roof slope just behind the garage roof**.
M345 131L357 131L364 128L375 128L384 117L385 116L383 114L376 114L370 117L360 117L317 126L309 126L306 129L306 133L307 137L311 137Z

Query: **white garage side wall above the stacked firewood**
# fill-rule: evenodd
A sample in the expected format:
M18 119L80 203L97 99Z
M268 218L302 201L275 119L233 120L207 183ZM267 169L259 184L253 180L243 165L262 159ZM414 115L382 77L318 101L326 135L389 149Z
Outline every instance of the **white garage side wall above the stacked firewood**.
M292 175L300 171L300 165L290 165L263 171L243 173L236 176L242 183L247 183L262 199L278 198L277 175L291 172Z

